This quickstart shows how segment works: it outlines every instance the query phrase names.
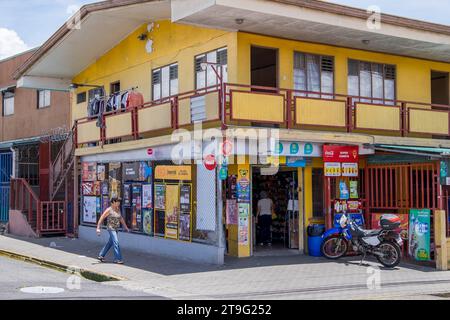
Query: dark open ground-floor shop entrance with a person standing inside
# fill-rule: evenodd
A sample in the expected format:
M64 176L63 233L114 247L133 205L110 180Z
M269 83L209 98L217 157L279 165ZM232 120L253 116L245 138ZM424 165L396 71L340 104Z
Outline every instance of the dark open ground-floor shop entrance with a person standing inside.
M298 169L280 167L272 173L261 167L252 170L254 255L299 249Z

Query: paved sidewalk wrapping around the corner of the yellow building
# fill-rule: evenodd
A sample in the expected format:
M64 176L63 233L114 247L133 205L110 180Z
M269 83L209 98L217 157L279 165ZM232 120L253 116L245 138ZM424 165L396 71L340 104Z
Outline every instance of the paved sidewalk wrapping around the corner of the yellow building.
M0 236L0 250L108 274L122 280L104 285L171 299L422 299L450 292L450 272L406 264L380 269L381 289L370 290L368 279L380 265L359 266L357 257L336 262L292 254L226 258L225 265L216 266L126 251L121 266L99 263L100 249L79 239Z

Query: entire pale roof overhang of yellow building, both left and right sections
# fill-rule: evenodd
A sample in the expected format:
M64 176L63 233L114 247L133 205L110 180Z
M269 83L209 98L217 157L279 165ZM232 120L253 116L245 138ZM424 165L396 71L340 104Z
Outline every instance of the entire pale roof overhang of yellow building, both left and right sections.
M82 7L15 78L18 87L68 90L75 75L140 25L159 19L450 62L449 26L382 15L381 29L371 30L369 16L365 10L317 0L103 1Z

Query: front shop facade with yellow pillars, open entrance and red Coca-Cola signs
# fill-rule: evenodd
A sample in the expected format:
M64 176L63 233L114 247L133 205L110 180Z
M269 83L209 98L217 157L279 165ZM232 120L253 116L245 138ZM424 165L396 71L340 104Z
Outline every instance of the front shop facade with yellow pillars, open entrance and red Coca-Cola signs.
M343 151L340 159L327 157L333 148ZM228 254L308 253L307 227L331 227L344 211L365 226L363 179L373 153L362 146L281 141L273 153L260 155L258 164L230 166L224 183ZM270 246L261 245L256 219L262 195L274 204Z

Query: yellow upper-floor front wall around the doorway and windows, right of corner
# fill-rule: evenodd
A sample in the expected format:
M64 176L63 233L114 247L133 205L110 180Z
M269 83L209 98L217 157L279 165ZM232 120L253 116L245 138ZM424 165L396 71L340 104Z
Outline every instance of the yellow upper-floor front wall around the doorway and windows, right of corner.
M397 99L421 103L431 102L431 71L450 72L448 63L238 33L239 83L250 84L250 48L252 45L278 49L278 78L281 88L293 87L294 51L333 56L335 59L335 92L338 94L347 94L348 59L396 65Z

